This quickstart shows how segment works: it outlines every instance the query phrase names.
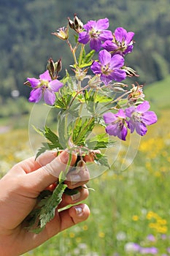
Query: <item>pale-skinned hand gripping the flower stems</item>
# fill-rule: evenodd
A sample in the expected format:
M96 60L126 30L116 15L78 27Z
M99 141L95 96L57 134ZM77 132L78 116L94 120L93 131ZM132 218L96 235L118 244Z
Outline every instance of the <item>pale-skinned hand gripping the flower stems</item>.
M76 162L72 155L70 165ZM41 233L28 232L23 227L23 219L36 205L39 193L58 181L58 175L66 168L69 154L63 151L56 157L54 152L42 154L36 161L34 157L18 163L0 180L0 255L18 256L47 241L63 230L88 219L90 210L80 203L88 197L85 183L89 179L88 170L75 173L71 170L66 184L69 189L80 187L76 196L63 195L58 208L76 204L63 211L56 211L55 217L47 223ZM74 177L74 178L73 178Z

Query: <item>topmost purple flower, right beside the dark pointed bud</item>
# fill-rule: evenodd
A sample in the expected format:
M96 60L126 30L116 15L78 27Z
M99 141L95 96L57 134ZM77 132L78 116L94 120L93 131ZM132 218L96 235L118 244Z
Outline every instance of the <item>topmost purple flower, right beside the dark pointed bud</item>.
M93 50L100 50L102 42L113 39L112 31L106 30L109 27L108 18L89 20L83 27L86 31L80 32L78 41L84 45L90 42Z

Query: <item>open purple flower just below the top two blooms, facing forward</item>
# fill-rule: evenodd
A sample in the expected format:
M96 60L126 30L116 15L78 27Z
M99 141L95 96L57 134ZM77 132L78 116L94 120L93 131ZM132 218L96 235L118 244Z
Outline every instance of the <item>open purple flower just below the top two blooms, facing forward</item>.
M111 56L107 50L98 53L98 61L94 61L91 70L94 74L100 74L101 80L107 85L112 80L120 82L125 79L125 71L121 69L124 64L123 56L116 54Z

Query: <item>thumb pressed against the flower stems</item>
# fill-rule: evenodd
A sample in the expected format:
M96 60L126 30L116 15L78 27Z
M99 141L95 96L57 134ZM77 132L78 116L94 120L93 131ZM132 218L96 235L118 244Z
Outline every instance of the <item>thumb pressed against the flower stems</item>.
M70 166L74 165L77 160L77 156L72 154L72 159L70 162ZM28 173L26 175L27 182L32 184L32 188L36 189L36 191L41 192L50 184L53 184L55 181L58 181L58 176L61 171L65 171L66 167L68 167L69 162L69 152L63 151L58 157L55 157L53 161L47 163L47 165L43 165L39 167L39 169L34 172Z

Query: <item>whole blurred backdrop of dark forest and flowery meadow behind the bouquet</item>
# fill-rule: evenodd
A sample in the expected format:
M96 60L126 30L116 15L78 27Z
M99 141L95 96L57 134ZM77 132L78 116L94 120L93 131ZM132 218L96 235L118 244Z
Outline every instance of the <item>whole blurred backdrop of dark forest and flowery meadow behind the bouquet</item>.
M0 0L0 175L33 154L28 122L33 105L28 77L39 77L47 59L72 56L51 33L74 13L88 20L109 18L109 29L134 31L126 65L139 73L158 123L142 138L134 162L120 172L127 144L112 170L90 181L90 219L26 255L170 255L170 0ZM61 72L62 76L62 72ZM98 197L100 197L98 199ZM143 249L135 251L135 244Z

